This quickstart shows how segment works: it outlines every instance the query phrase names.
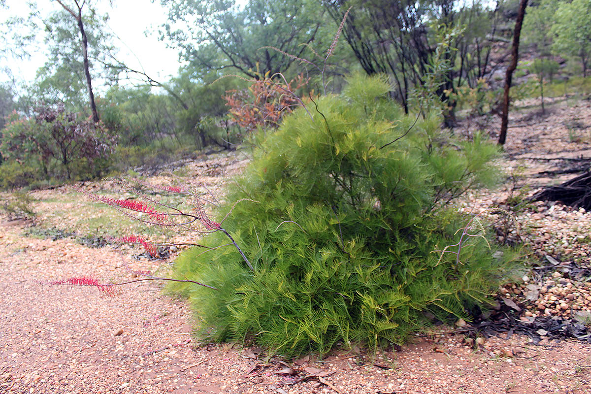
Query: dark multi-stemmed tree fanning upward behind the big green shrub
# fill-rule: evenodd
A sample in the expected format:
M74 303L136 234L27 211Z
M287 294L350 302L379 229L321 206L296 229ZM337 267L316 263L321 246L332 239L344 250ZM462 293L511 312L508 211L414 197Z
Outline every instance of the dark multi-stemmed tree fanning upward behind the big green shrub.
M436 29L431 22L453 28L457 0L323 0L322 4L336 23L348 11L343 36L359 64L369 75L389 74L396 85L395 96L408 112L411 90L432 71L436 43L430 38ZM450 51L446 61L453 64L455 56ZM437 96L447 101L450 89L451 74L437 87ZM453 110L448 115L446 121L453 123Z

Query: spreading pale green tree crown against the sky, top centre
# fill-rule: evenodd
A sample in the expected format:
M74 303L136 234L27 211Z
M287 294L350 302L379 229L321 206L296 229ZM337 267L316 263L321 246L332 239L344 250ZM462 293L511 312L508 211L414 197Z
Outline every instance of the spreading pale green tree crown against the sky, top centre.
M162 38L191 66L259 79L287 70L323 28L315 0L161 0L169 9ZM275 48L275 49L274 49Z

